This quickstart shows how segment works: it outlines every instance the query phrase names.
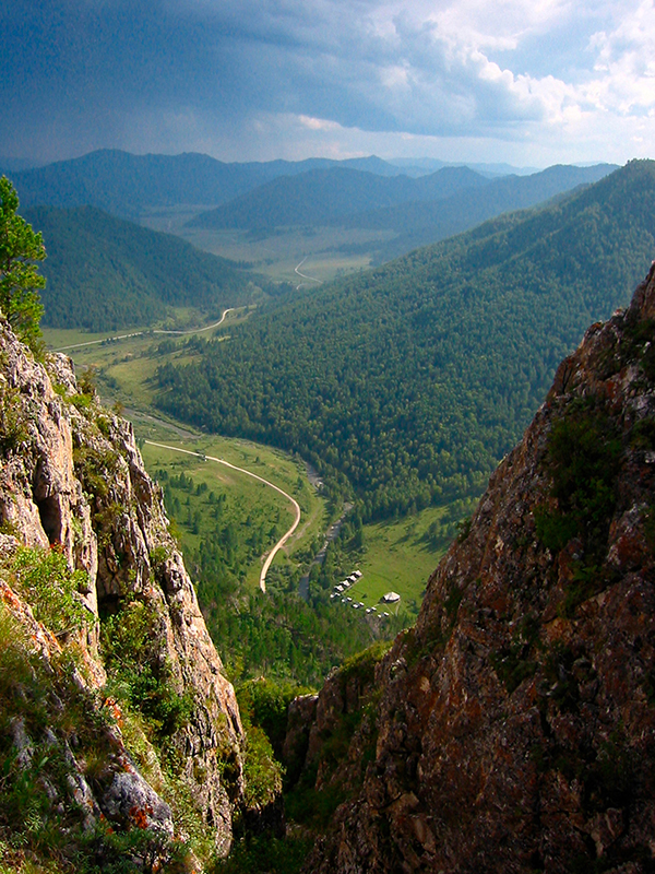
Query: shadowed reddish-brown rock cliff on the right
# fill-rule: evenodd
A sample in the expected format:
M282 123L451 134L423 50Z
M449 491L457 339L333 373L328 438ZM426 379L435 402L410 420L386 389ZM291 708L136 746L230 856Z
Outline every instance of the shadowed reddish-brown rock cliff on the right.
M561 364L378 664L373 761L306 870L653 871L654 547L652 270Z

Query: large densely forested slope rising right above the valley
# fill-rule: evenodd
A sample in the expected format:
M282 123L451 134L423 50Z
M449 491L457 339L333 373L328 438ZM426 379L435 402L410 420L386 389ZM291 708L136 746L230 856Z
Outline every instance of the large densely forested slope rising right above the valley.
M655 163L631 162L251 319L159 370L162 409L299 451L365 518L479 492L590 321L655 251Z

